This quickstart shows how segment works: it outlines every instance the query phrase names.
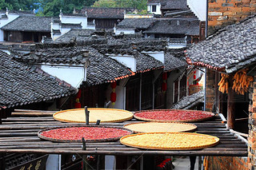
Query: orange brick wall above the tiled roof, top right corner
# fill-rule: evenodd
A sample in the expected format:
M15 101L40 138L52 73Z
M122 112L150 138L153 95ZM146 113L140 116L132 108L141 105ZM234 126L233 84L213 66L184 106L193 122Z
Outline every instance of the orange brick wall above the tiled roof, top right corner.
M256 0L208 0L208 34L254 14Z

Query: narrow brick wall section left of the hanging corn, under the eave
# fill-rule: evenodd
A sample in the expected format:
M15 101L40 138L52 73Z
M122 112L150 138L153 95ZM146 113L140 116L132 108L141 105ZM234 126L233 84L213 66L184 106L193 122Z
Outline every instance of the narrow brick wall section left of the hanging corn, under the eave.
M206 111L211 111L214 105L215 71L206 71Z

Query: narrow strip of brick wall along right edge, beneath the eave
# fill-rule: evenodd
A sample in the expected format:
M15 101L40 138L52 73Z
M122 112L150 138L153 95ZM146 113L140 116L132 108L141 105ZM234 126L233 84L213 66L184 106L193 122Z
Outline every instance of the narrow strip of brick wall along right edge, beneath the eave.
M249 98L248 166L250 169L256 169L256 76L254 82L250 83Z

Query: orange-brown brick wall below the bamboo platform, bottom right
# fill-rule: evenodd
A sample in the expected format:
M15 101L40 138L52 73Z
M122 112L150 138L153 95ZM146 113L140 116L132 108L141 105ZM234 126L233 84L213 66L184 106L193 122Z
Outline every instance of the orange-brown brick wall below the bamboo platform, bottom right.
M208 156L208 170L222 170L222 169L235 169L245 170L248 169L246 157L234 156Z

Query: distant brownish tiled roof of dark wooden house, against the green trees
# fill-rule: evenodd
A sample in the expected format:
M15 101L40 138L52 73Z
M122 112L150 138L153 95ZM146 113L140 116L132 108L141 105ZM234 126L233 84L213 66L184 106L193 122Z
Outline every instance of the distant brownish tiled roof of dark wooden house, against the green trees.
M126 8L97 8L85 6L81 12L87 13L88 18L122 19Z

